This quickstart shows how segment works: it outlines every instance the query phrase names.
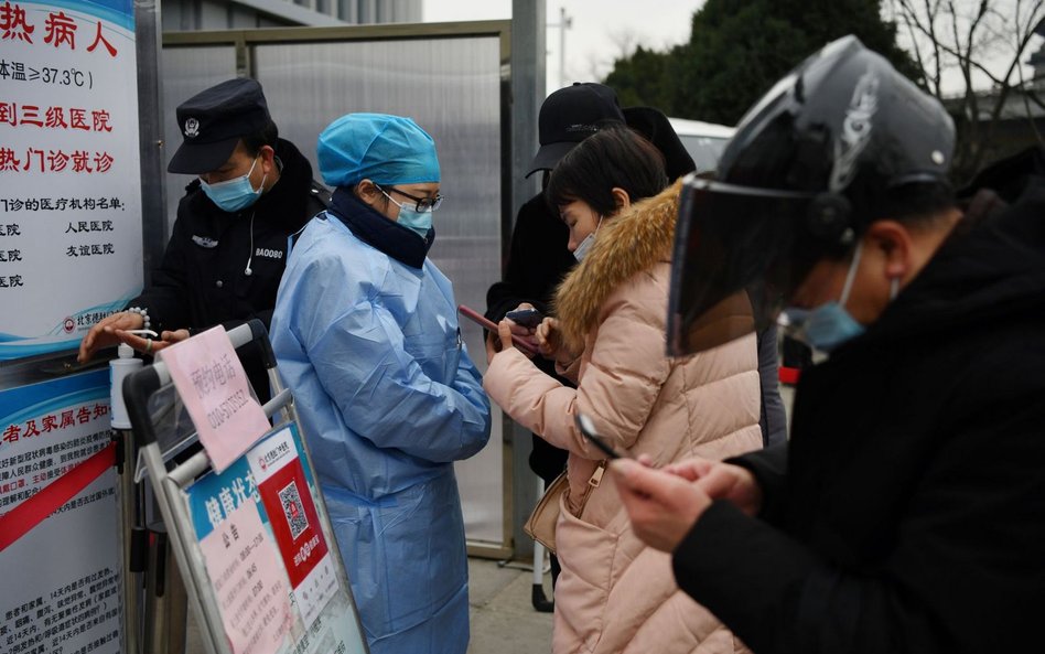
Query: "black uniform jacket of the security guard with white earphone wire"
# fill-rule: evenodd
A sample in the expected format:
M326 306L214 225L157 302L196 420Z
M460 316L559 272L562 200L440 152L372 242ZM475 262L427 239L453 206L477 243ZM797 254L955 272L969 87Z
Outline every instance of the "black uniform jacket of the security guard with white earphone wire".
M326 208L328 197L293 143L280 139L276 154L283 164L279 182L241 212L219 210L198 180L185 187L152 285L130 302L149 311L153 330L231 329L252 318L269 326L287 237Z

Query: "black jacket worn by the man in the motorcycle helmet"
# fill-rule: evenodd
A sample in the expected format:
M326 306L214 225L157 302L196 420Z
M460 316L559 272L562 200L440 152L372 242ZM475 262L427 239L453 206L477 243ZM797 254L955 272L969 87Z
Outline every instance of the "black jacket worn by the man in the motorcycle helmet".
M1045 646L1042 172L992 217L969 212L864 335L802 373L790 450L739 460L761 519L715 502L676 550L679 586L756 654Z

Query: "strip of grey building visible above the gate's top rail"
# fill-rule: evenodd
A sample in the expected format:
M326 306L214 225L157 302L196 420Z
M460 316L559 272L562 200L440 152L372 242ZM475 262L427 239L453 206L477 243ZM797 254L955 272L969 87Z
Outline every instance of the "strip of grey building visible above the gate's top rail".
M421 0L165 0L164 32L421 22Z

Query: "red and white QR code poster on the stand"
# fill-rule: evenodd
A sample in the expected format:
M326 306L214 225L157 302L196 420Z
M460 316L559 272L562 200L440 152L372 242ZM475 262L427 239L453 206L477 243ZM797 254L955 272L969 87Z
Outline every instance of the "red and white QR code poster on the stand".
M290 430L273 435L247 454L272 536L294 589L327 553L312 489L298 454Z

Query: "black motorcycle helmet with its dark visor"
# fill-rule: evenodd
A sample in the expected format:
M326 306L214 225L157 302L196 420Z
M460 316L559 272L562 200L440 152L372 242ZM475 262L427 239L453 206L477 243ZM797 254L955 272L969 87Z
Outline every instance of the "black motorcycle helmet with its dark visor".
M954 144L939 101L855 36L808 57L747 111L717 179L686 180L669 352L768 326L814 264L844 257L911 189L946 185Z

